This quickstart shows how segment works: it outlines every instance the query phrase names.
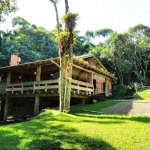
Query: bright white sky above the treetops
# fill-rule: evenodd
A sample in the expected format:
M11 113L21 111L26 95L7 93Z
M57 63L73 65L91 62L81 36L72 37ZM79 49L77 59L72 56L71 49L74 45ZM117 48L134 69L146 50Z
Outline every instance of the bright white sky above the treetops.
M110 28L126 32L137 24L150 26L150 0L68 0L69 11L79 13L76 30L81 33ZM55 9L49 0L17 0L19 10L6 17L0 30L11 30L11 21L20 16L31 24L52 30L56 25ZM65 14L64 0L58 4L59 16Z

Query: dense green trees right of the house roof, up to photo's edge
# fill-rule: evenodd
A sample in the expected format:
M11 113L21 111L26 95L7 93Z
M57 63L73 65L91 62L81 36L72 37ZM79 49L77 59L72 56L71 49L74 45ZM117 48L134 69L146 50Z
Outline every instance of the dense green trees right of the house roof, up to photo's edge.
M118 77L118 83L149 84L150 28L148 26L139 24L129 28L126 33L102 29L101 32L100 30L88 32L87 35L89 38L100 35L105 37L105 41L95 45L90 53L99 56L106 68Z

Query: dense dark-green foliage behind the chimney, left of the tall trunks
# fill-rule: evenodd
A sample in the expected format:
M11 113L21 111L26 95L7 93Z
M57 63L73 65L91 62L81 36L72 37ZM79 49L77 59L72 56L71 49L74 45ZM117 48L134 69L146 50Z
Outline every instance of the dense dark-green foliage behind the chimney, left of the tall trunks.
M10 56L16 53L21 63L56 57L58 53L55 33L28 23L17 17L12 21L14 31L1 31L1 66L9 65Z

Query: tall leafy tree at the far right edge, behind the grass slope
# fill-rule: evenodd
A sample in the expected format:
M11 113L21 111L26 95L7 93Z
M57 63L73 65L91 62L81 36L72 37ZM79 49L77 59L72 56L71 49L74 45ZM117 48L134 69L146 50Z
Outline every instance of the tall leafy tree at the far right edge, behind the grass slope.
M145 80L150 63L150 27L138 24L129 28L128 32L134 43L130 61L134 64L136 76Z

